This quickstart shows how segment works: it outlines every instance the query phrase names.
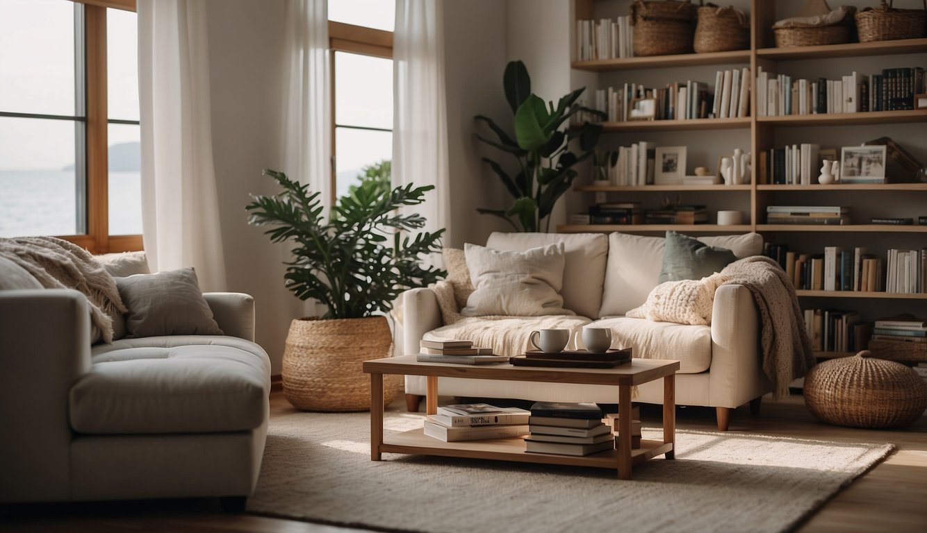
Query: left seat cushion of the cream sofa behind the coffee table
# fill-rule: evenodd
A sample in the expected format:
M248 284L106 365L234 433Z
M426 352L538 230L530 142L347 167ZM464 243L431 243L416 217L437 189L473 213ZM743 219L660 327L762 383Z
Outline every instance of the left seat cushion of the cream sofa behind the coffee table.
M585 316L469 316L450 326L432 329L425 340L463 339L476 346L492 348L500 355L519 355L529 348L528 337L535 329L567 328L578 331L590 323Z

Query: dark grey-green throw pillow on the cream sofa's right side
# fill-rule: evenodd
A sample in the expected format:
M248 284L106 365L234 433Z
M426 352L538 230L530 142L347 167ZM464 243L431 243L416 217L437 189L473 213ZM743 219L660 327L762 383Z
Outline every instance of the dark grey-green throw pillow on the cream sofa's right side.
M667 231L663 248L660 283L680 279L703 279L720 272L737 259L727 248L709 246L694 237Z

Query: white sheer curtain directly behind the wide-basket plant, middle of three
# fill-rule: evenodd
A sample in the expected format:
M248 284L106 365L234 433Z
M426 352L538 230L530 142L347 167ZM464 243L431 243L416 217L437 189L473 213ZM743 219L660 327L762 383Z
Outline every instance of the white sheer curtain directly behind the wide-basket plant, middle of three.
M321 192L324 216L332 197L331 68L328 55L327 0L289 0L286 4L284 154L290 178Z

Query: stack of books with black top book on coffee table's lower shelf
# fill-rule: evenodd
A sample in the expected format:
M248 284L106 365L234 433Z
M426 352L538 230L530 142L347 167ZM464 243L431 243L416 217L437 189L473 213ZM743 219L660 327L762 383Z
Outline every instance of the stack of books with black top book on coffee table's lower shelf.
M615 448L612 428L595 403L537 402L531 405L525 451L589 455Z

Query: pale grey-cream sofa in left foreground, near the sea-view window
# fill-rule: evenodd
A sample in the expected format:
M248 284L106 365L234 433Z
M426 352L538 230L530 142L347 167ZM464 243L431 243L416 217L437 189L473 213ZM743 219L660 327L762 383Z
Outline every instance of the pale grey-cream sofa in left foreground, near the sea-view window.
M0 257L0 289L28 285L16 268ZM204 296L224 335L91 345L82 292L0 291L0 502L218 496L243 507L267 434L270 360L253 341L250 296Z

